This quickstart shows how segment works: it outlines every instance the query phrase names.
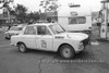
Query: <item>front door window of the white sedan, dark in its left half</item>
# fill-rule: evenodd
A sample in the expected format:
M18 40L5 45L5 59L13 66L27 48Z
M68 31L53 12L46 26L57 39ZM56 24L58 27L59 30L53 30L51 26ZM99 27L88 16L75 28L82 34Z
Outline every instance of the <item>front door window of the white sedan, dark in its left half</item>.
M46 26L37 26L37 35L51 35Z

